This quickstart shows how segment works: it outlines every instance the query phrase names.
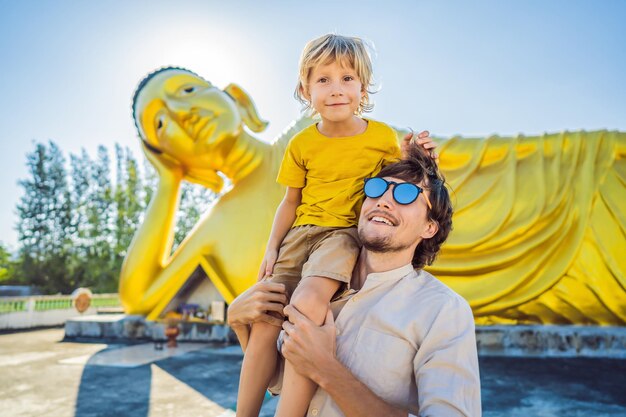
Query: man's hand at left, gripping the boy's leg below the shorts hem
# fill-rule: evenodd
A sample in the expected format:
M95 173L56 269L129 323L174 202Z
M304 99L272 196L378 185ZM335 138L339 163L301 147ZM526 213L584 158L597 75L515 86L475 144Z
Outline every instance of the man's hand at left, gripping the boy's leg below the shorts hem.
M263 321L280 327L283 308L287 304L285 286L269 281L261 281L248 288L228 306L230 327L248 326ZM278 313L276 316L269 312Z

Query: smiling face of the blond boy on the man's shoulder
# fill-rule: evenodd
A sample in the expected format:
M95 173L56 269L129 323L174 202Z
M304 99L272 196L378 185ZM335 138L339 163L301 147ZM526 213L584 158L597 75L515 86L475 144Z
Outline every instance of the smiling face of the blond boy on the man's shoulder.
M361 80L347 63L331 62L314 67L304 96L322 120L342 122L352 118L364 95Z

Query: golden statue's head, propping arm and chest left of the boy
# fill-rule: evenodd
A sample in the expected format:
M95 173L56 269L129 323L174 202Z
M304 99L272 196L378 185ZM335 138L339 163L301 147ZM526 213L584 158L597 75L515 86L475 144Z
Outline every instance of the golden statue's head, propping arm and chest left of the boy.
M252 132L267 123L246 92L224 90L179 68L148 75L133 99L143 149L159 185L128 249L119 293L127 313L156 319L201 266L226 302L256 280L274 212L284 188L275 181L289 139L310 124L294 123L265 143ZM181 181L223 191L171 253Z

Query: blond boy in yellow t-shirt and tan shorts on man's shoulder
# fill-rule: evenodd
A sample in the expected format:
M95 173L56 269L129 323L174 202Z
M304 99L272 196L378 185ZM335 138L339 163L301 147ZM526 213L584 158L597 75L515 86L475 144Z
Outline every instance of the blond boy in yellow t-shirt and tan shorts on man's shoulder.
M325 35L300 58L296 98L321 121L289 143L277 181L287 187L259 272L285 284L290 303L323 324L333 295L350 284L359 253L356 224L365 178L401 156L389 126L360 117L370 111L369 54L359 38ZM422 146L435 146L423 132ZM403 148L409 146L407 135ZM277 361L280 328L252 325L241 369L237 416L258 416ZM285 364L277 416L306 413L315 384Z

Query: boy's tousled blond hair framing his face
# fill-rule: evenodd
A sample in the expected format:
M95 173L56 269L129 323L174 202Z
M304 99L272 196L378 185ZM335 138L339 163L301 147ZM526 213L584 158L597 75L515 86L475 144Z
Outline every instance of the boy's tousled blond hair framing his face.
M374 91L370 91L373 86L372 60L363 40L352 36L329 33L313 39L304 46L300 56L298 85L294 94L296 99L305 106L310 106L309 101L304 97L304 91L307 88L311 70L317 65L330 64L331 62L349 65L354 69L365 93L357 112L361 114L372 111L374 105L370 103L369 97L370 94L374 93Z

